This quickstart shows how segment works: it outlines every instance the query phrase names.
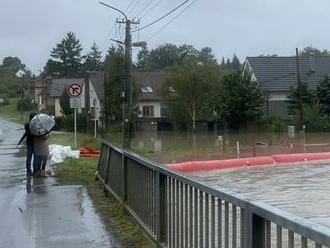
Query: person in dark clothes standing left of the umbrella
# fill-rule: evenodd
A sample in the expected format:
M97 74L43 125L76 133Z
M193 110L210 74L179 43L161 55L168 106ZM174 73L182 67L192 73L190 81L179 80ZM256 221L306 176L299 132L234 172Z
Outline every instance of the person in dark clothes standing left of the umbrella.
M29 120L31 121L34 116L36 116L36 114L31 113ZM33 157L33 163L36 162L36 159L34 156L33 135L30 132L30 122L24 124L24 129L25 129L25 133L18 142L17 146L19 146L22 143L22 141L26 138L26 174L28 176L31 176L33 174L31 170L32 157Z

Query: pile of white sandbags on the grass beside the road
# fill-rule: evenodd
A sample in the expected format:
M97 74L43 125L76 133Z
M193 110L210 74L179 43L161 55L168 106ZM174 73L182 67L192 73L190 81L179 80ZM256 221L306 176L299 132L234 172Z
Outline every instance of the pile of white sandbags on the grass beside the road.
M70 146L50 145L50 165L62 163L66 158L79 159L79 150L71 150Z

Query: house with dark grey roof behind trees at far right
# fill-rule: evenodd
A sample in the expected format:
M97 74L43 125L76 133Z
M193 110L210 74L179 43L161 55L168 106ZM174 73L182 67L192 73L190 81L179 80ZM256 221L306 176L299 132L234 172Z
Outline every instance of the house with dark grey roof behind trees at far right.
M301 81L316 90L320 80L330 74L330 56L299 57L299 68ZM288 118L287 95L298 82L296 57L247 57L243 72L251 73L252 80L267 93L267 117Z

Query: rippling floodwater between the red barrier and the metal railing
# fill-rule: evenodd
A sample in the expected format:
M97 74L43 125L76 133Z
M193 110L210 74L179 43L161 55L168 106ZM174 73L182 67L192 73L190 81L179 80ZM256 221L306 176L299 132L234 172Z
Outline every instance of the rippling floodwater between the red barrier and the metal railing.
M212 170L190 175L330 227L329 161Z

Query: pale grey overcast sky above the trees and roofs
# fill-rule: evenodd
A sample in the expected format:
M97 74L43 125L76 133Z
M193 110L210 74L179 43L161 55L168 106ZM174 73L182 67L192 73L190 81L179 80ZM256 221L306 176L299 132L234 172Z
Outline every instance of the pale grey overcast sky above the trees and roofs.
M130 18L147 14L141 26L183 2L104 1L122 10L131 5L126 11ZM158 1L146 13L146 6L151 8ZM292 55L296 47L308 45L330 49L329 9L329 0L197 0L152 39L175 15L141 31L139 37L135 33L133 39L147 40L149 48L164 43L209 46L218 59L234 53L240 59L260 54ZM116 17L116 12L96 0L0 0L0 60L17 56L38 73L51 49L69 31L77 34L85 52L94 41L106 51L111 45L109 39L116 38Z

